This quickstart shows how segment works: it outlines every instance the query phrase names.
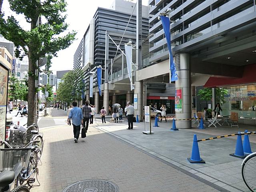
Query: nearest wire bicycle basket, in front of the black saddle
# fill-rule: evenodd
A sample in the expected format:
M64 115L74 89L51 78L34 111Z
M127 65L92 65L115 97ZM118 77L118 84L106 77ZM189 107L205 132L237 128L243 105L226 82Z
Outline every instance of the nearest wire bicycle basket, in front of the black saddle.
M26 169L30 154L31 148L0 149L0 171L11 171L18 162Z

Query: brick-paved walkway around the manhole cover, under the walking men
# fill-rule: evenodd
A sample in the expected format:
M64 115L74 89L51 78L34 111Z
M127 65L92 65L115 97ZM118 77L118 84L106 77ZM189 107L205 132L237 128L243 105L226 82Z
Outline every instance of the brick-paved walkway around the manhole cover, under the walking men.
M74 143L70 126L43 132L41 186L31 192L62 192L86 179L109 180L118 185L119 192L226 192L93 126L78 143Z

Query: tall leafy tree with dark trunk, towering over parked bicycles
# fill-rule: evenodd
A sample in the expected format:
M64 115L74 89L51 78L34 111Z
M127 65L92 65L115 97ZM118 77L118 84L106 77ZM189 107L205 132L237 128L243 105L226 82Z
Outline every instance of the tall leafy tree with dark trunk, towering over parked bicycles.
M42 1L42 2L41 2ZM15 16L4 18L0 15L0 34L16 46L16 57L28 56L28 125L34 122L36 86L38 79L37 61L46 54L56 56L56 52L65 49L74 41L76 32L66 32L65 0L8 0L10 9L24 15L30 24L30 30L24 30ZM43 23L41 22L41 18Z

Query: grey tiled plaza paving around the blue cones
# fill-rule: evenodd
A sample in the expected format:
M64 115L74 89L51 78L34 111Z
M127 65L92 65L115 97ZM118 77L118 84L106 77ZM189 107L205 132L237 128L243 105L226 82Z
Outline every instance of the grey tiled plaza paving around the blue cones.
M154 125L154 121L151 124ZM200 156L206 161L206 164L190 164L187 158L191 156L194 134L197 134L198 139L203 139L237 133L238 130L241 132L245 129L256 131L256 126L240 124L239 128L223 126L203 130L198 128L180 129L172 132L170 131L172 121L158 122L158 125L159 127L152 126L154 131L152 135L142 134L144 122L134 123L134 130L126 130L127 122L107 124L106 126L99 123L96 127L226 190L231 192L248 191L242 180L242 159L229 155L235 152L236 136L199 142ZM251 135L250 141L254 152L256 151L256 136Z

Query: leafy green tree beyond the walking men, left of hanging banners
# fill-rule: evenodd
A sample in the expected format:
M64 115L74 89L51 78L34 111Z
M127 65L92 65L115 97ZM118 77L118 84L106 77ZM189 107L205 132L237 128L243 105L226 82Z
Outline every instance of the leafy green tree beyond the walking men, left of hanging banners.
M82 98L83 71L78 69L64 74L61 82L58 84L57 99L69 104L72 101L78 101Z

